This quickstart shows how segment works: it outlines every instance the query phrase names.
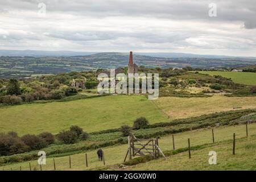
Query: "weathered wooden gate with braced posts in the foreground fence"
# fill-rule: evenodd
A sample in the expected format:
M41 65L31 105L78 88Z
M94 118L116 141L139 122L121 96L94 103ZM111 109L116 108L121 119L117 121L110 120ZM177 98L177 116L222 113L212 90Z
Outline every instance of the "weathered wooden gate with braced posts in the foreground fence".
M151 155L153 158L158 158L162 155L165 159L162 150L158 146L158 138L151 138L151 139L138 139L134 135L128 136L128 150L125 155L125 160L129 155L129 160L133 156L144 156L144 155Z

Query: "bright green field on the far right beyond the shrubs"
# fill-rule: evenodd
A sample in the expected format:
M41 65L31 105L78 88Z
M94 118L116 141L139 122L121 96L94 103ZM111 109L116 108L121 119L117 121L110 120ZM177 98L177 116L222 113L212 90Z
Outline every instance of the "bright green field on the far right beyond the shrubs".
M256 73L250 72L221 72L221 71L199 71L199 73L209 75L220 75L222 77L231 78L238 84L256 85Z

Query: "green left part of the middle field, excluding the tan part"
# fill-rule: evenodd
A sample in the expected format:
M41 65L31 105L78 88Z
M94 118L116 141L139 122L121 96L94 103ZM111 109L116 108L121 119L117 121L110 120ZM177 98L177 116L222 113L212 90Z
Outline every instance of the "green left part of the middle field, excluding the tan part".
M69 102L24 104L0 108L0 132L15 131L19 135L53 134L78 125L87 132L132 125L138 117L150 123L168 118L144 96L105 96Z

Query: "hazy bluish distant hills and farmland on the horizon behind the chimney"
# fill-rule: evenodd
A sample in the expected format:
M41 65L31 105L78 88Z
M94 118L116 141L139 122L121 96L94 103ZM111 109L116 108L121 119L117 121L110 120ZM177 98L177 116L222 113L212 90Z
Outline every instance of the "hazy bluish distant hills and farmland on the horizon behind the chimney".
M23 55L16 52L13 53L13 55L9 54L9 56L0 56L0 78L31 77L41 74L65 73L72 71L80 72L96 70L99 68L110 69L126 67L129 61L128 52L74 53L67 51L65 52L66 56L56 56L57 53L59 53L59 55L64 55L63 51L32 51L27 54L26 51L21 51L20 53L23 53ZM49 53L51 53L51 56L43 56L44 54L49 55ZM256 59L247 59L243 57L206 58L188 57L185 55L185 57L160 57L157 54L155 54L155 56L152 56L152 53L146 54L147 55L143 55L142 53L134 53L134 62L139 66L144 66L147 68L234 68L256 64Z

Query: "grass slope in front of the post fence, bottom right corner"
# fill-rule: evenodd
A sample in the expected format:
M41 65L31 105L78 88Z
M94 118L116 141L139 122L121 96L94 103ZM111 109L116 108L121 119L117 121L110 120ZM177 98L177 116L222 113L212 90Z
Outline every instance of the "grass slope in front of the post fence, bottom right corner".
M256 135L243 138L236 142L236 155L232 155L232 140L221 142L201 150L192 151L192 158L188 158L188 152L170 156L167 160L151 160L147 163L137 164L129 170L256 170ZM209 165L209 151L217 152L217 165Z

